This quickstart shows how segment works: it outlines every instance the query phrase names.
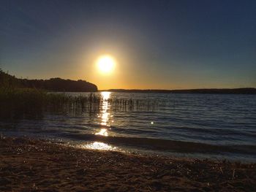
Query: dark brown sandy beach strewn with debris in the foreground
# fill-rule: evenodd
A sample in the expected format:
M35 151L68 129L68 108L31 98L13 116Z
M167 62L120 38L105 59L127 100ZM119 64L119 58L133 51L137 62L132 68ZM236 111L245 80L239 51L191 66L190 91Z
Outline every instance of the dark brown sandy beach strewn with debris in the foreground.
M256 164L0 138L0 191L256 191Z

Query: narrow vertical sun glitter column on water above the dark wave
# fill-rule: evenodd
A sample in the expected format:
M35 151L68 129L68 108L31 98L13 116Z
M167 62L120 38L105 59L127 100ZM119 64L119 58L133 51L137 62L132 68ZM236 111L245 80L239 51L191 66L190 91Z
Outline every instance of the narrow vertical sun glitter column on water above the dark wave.
M108 128L106 127L110 127L110 123L109 123L109 117L113 117L113 115L110 116L110 113L108 112L110 106L108 103L108 99L110 99L110 92L102 92L101 96L102 96L102 110L101 110L101 114L98 115L99 118L101 118L101 122L100 125L101 126L105 126L105 128L101 128L97 133L95 133L96 135L102 135L102 136L108 136Z

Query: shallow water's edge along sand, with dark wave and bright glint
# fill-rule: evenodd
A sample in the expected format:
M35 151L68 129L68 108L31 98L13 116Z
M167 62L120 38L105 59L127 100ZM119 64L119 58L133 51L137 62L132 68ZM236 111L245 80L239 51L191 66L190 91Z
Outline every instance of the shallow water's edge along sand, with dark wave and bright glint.
M1 134L1 133L0 133ZM95 134L61 134L61 137L40 137L26 132L8 134L5 137L25 137L30 139L45 139L45 141L63 144L67 147L85 150L111 150L137 155L158 155L177 158L208 158L213 161L227 160L256 163L256 145L213 145L203 142L177 141L143 137L113 137Z

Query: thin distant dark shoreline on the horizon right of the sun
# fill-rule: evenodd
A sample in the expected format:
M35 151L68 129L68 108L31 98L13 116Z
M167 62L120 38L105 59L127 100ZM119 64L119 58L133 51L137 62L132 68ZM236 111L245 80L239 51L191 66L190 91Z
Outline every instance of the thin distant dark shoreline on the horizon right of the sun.
M184 90L162 89L109 89L111 92L127 93L216 93L216 94L256 94L256 88L203 88Z

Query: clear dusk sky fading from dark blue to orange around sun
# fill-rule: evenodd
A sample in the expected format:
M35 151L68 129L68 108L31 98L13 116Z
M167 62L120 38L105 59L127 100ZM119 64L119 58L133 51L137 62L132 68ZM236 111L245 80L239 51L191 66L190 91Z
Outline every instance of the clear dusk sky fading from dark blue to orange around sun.
M0 68L99 89L256 87L256 1L1 0Z

